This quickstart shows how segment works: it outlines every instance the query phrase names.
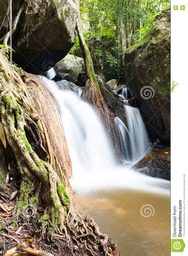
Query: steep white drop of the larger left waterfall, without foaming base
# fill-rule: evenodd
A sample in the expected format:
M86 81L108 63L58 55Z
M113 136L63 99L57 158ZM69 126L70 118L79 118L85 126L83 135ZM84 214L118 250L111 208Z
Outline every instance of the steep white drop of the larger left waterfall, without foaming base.
M100 172L115 166L111 145L96 112L80 100L80 91L60 90L56 82L42 77L48 90L56 98L74 170Z

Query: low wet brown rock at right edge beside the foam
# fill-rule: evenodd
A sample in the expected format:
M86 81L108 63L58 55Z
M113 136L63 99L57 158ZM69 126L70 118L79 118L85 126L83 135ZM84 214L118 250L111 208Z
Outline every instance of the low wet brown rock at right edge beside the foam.
M170 152L165 150L155 151L142 158L132 168L152 177L170 180L171 158Z

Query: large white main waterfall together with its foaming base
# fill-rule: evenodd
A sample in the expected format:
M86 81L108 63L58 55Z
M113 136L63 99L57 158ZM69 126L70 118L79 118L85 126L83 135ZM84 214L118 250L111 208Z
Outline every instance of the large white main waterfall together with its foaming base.
M78 95L60 90L56 82L40 76L59 104L69 149L75 192L124 188L169 194L169 182L115 164L106 131L94 109ZM160 189L159 189L160 188Z

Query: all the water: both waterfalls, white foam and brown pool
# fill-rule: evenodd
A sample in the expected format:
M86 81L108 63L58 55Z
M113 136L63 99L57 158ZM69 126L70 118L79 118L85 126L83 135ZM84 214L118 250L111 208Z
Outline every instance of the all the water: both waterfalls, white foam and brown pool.
M122 255L169 255L170 182L130 168L149 145L139 109L125 106L128 128L115 118L125 158L125 166L120 166L94 109L80 95L40 78L59 105L73 169L75 208L93 217ZM126 95L124 90L124 100Z

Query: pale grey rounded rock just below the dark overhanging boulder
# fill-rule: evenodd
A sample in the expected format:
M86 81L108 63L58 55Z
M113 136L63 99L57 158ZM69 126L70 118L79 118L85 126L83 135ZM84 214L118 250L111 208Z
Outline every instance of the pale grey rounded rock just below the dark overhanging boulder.
M63 79L65 74L71 75L71 82L75 82L78 78L78 75L84 72L84 69L84 60L71 54L67 54L65 58L63 58L55 65L55 70L57 74L59 74Z

